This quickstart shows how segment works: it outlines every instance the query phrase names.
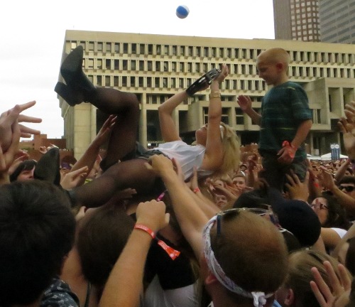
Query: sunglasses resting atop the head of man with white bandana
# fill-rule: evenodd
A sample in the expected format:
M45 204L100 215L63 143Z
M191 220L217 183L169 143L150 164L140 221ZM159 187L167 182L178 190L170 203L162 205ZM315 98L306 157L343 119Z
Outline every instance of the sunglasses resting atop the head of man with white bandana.
M265 205L265 208L233 208L217 213L217 236L222 235L222 217L236 216L239 215L241 211L248 211L260 215L261 217L265 217L267 220L270 220L273 225L278 227L280 232L286 231L280 227L278 217L273 213L271 206Z

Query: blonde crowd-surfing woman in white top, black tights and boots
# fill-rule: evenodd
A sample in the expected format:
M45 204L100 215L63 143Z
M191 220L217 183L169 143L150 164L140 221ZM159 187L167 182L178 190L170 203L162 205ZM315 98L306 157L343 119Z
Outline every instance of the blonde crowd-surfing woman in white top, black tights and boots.
M226 65L212 70L194 82L187 90L179 92L160 105L160 131L164 144L158 148L139 149L136 135L139 122L139 102L136 95L112 88L94 87L82 72L82 46L72 50L61 65L60 72L66 85L58 82L55 91L68 104L91 102L106 114L116 114L107 156L102 161L104 173L91 183L72 190L72 200L94 207L106 203L116 190L134 188L138 194L158 195L165 189L155 174L145 166L153 154L175 158L182 166L185 179L192 176L194 167L198 173L209 176L239 166L239 140L231 127L221 122L222 101L219 86L228 75ZM195 146L182 141L172 117L173 110L195 92L207 90L210 85L208 124L195 132Z

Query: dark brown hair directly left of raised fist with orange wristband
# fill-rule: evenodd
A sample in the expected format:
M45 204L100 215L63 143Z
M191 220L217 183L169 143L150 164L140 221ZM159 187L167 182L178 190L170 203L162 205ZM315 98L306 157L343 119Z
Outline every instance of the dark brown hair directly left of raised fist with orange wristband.
M103 287L133 230L134 222L121 207L103 205L83 220L77 250L85 278Z

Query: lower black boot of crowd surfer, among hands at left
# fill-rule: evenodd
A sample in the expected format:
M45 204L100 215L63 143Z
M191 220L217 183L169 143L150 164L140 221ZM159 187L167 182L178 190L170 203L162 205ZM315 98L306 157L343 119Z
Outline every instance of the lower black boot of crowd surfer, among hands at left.
M55 185L60 185L60 157L57 147L47 151L38 160L33 177L41 181L49 181Z

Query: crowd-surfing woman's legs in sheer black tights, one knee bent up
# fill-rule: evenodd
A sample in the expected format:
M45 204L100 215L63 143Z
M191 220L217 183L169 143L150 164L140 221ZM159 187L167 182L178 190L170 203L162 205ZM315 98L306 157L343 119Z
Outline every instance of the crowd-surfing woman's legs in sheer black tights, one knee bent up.
M98 87L90 102L104 113L117 115L104 161L104 165L110 167L91 183L75 188L75 199L80 205L97 207L107 203L116 191L125 188L135 188L139 194L151 194L156 176L144 165L146 160L134 158L117 163L136 149L139 122L136 95Z

